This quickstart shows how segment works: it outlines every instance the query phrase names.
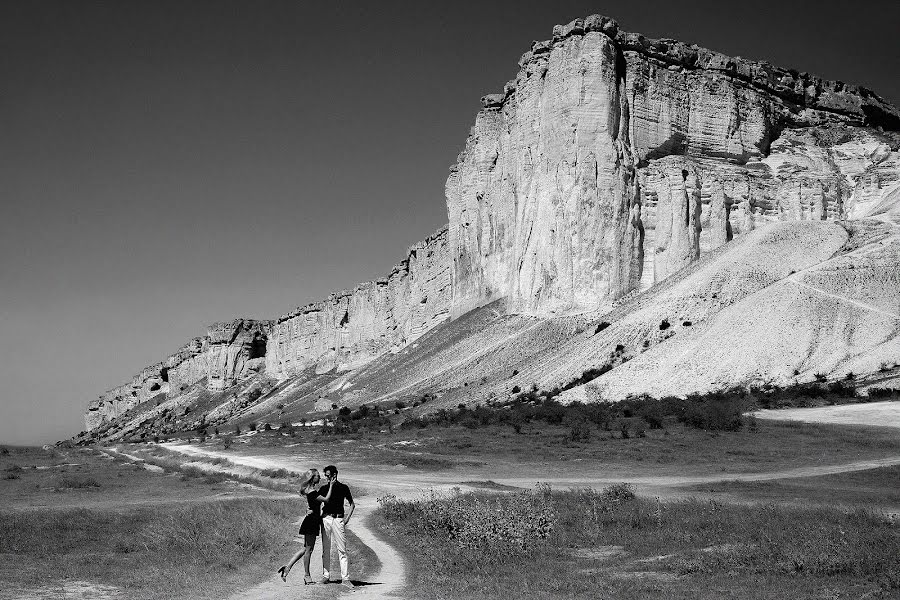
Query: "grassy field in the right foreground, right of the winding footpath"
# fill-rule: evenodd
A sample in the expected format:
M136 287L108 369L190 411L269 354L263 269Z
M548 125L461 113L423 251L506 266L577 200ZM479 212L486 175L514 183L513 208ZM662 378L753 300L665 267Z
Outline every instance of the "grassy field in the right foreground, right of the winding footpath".
M832 508L654 502L604 492L387 499L411 598L886 598L900 528Z

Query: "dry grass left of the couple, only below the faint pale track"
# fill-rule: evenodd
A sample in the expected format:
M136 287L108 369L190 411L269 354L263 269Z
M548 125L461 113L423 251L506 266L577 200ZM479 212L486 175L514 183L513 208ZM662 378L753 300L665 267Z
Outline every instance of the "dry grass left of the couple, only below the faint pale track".
M170 504L123 511L0 513L0 581L7 589L52 580L102 582L126 598L218 598L260 577L289 552L287 500Z

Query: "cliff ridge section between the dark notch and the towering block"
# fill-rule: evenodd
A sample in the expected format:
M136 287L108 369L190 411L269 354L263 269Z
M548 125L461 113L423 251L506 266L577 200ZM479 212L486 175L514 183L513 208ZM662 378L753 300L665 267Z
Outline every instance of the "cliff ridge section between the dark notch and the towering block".
M280 317L269 336L266 372L284 378L307 369L354 369L396 351L449 317L449 273L444 228L410 248L386 278Z

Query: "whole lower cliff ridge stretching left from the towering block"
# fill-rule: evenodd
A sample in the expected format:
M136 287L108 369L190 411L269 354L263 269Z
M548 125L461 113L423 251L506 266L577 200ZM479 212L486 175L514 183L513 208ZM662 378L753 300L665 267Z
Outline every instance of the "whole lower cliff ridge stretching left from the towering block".
M205 380L223 390L258 373L284 379L305 369L317 373L359 367L396 350L450 314L447 229L409 249L384 279L331 294L275 321L237 319L210 325L164 361L91 402L87 430L159 397L175 397Z

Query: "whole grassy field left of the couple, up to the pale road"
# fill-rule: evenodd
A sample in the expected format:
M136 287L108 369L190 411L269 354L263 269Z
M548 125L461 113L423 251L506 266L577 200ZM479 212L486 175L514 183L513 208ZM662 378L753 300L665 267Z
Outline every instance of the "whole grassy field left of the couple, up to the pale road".
M90 448L0 448L0 474L4 600L225 598L275 577L305 513L297 497L199 470L148 471ZM373 568L367 548L349 546L359 572Z

